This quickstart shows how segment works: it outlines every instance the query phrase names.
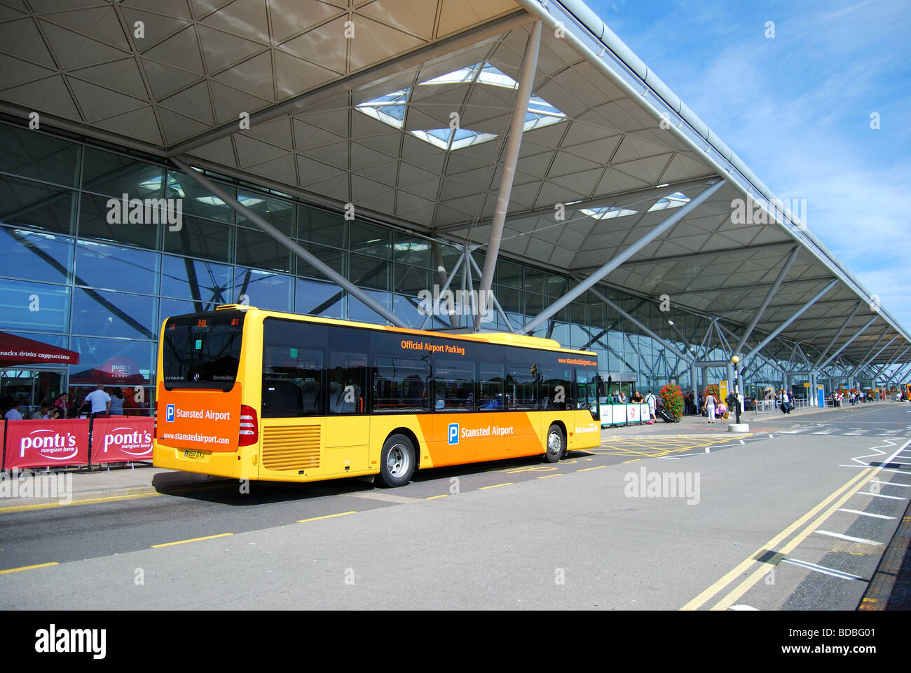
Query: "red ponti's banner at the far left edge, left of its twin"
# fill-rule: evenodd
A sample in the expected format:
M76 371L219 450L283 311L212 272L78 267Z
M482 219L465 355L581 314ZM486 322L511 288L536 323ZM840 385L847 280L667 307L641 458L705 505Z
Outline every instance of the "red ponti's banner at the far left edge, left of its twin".
M88 419L7 420L4 470L88 463Z

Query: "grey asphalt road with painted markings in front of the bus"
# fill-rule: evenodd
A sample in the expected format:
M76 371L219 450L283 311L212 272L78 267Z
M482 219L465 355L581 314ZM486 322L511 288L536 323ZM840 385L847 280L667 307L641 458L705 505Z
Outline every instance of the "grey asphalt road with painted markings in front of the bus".
M2 513L0 571L53 565L0 574L0 608L853 610L911 497L909 413Z

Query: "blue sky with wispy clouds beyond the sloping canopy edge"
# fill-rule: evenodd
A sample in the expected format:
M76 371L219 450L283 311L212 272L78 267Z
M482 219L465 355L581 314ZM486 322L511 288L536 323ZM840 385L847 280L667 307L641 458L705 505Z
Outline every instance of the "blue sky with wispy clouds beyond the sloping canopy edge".
M587 3L911 330L911 2Z

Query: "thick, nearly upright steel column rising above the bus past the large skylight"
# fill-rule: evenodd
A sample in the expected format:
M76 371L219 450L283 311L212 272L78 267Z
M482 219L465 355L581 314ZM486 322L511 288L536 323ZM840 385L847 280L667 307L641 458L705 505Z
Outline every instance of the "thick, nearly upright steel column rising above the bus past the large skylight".
M503 239L503 226L507 219L509 208L509 195L512 193L513 179L516 177L516 164L518 150L522 145L522 131L525 129L525 118L528 114L528 100L531 98L531 89L535 84L537 72L537 52L541 46L541 22L536 21L531 29L531 35L525 43L525 55L522 57L522 67L518 76L518 91L516 93L516 107L513 109L512 121L509 123L509 137L507 149L503 157L503 169L500 172L500 187L496 192L496 209L494 220L490 224L490 238L487 243L484 258L484 273L481 274L480 293L490 292L494 284L494 269L496 257L500 253L500 241ZM480 294L479 293L479 294ZM481 326L481 316L475 316L475 330Z

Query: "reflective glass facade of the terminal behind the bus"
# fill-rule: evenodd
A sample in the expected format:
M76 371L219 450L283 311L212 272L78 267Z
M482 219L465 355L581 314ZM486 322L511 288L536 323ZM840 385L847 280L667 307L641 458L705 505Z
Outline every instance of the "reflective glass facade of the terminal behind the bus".
M418 293L440 284L429 241L381 223L348 221L342 212L246 183L220 185L410 326L459 325L457 319L450 325L448 316L433 316L425 325ZM129 200L148 204L162 199L179 200L179 226L169 223L165 212L151 219L148 208L147 217L133 218L128 212ZM461 253L440 247L445 268L451 270ZM56 368L65 375L71 400L97 382L128 380L133 407L154 407L156 343L167 316L245 303L384 322L180 171L5 124L0 124L0 259L0 331L77 351L78 365L68 371ZM475 261L483 268L483 253L476 252ZM456 276L451 289L463 283ZM572 285L566 276L501 258L493 290L515 329ZM653 301L606 292L645 324L673 320L700 350L709 326L705 317L660 313ZM463 317L462 325L466 321ZM506 321L496 312L485 327L505 330ZM668 332L661 330L684 349L681 339ZM534 335L597 352L605 378L622 373L643 392L669 380L690 386L690 369L681 357L640 334L590 293ZM724 355L704 356L712 357ZM700 371L706 377L700 386L724 376L722 368ZM752 376L781 385L780 374L771 367L756 369Z

